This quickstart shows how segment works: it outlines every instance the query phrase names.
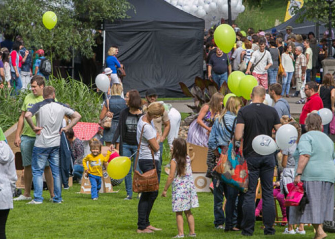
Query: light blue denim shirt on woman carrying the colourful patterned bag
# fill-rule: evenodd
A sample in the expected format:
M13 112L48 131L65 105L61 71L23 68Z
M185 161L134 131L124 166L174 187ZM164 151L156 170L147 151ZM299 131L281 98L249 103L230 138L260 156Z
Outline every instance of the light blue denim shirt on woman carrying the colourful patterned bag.
M233 115L230 111L223 116L222 120L225 121L226 126L229 131L234 131L236 125L232 125L236 115ZM231 133L224 127L224 124L217 118L212 127L209 140L208 140L208 148L215 150L220 146L228 146L231 136ZM223 128L224 127L224 128Z

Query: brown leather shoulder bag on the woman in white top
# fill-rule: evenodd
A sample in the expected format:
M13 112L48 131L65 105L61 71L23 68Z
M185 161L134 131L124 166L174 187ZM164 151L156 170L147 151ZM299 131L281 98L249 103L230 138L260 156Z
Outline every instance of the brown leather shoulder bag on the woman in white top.
M140 147L142 143L142 136L143 136L143 130L144 127L146 126L143 125L142 127L142 132L141 132L141 137L140 137L140 143L139 147L137 148L137 155L136 155L136 160L135 160L135 165L137 165L139 155L140 155ZM154 168L141 174L138 170L135 170L134 172L134 177L132 180L132 191L133 192L153 192L153 191L158 191L159 189L159 183L158 183L158 175L157 175L157 169L156 169L156 164L155 164L155 158L154 158L154 153L151 149L151 155L152 155L152 161L154 164Z

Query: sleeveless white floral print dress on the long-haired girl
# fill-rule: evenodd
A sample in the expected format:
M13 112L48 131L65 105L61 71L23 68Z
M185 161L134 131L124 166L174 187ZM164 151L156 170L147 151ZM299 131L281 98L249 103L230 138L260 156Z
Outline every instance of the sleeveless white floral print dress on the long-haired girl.
M172 159L177 164L176 159ZM196 195L194 179L192 176L191 159L186 158L186 170L184 176L177 176L172 182L172 211L182 212L191 208L198 208L198 196Z

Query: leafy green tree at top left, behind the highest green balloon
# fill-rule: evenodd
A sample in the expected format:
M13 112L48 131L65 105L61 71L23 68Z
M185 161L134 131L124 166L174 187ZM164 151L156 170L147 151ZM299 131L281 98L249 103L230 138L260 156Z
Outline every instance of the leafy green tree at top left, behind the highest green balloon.
M126 0L2 0L2 24L6 31L22 36L26 46L43 48L61 59L70 59L71 47L92 57L94 29L104 20L126 18L131 5ZM52 30L44 27L46 11L57 15Z

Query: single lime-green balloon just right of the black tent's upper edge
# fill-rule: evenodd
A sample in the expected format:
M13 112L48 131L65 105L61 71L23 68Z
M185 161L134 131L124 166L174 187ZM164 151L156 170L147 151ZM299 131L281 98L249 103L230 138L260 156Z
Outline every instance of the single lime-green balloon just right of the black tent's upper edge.
M224 53L228 53L236 42L235 30L228 24L219 25L214 31L214 41Z

